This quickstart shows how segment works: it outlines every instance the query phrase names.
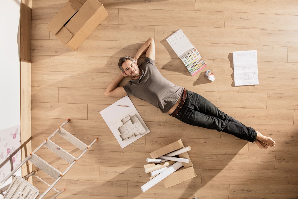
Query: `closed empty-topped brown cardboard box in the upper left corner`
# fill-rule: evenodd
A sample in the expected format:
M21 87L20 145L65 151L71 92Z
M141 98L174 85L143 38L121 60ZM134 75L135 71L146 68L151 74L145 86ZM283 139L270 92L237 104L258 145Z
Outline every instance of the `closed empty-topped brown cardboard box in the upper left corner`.
M69 0L46 28L65 46L76 50L106 16L98 0Z

